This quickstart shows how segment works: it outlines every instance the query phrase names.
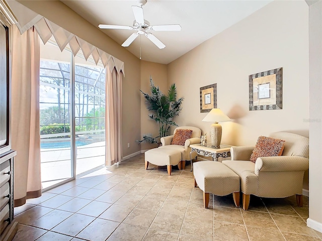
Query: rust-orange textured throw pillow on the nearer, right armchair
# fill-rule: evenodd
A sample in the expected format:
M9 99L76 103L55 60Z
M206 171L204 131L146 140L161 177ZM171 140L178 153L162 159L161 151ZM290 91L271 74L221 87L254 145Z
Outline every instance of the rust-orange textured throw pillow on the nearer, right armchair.
M250 161L256 162L258 157L281 156L284 150L284 140L260 136L251 155Z

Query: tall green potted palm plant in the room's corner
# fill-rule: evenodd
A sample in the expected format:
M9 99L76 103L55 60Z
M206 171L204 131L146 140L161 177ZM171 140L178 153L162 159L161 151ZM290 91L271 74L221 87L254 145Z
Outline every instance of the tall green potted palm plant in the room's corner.
M158 86L154 86L152 77L150 76L150 91L151 95L144 93L140 90L145 98L145 106L150 111L148 116L158 125L158 136L152 137L151 133L143 134L143 139L138 140L141 143L159 143L159 138L168 136L171 126L178 125L173 121L173 118L181 112L181 104L183 97L177 99L177 87L173 83L169 90L168 95L165 95Z

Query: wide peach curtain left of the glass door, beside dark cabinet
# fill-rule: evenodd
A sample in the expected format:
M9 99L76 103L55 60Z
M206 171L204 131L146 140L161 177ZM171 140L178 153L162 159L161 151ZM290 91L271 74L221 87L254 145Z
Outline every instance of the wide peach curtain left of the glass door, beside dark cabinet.
M39 36L32 27L22 35L13 27L12 149L15 157L15 206L41 196L39 134Z

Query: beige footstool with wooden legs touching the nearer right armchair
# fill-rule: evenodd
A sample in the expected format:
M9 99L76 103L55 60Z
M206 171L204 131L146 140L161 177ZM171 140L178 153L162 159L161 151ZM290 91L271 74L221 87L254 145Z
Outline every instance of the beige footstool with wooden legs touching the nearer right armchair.
M208 208L209 193L225 196L232 193L236 207L239 207L239 176L221 162L199 161L193 164L195 187L203 191L204 207Z

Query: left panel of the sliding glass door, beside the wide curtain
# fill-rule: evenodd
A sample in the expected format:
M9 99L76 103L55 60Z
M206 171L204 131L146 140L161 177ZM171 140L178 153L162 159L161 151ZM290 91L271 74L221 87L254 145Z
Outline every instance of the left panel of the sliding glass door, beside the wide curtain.
M41 46L39 105L43 188L72 177L68 61L71 53L57 48L49 42Z

